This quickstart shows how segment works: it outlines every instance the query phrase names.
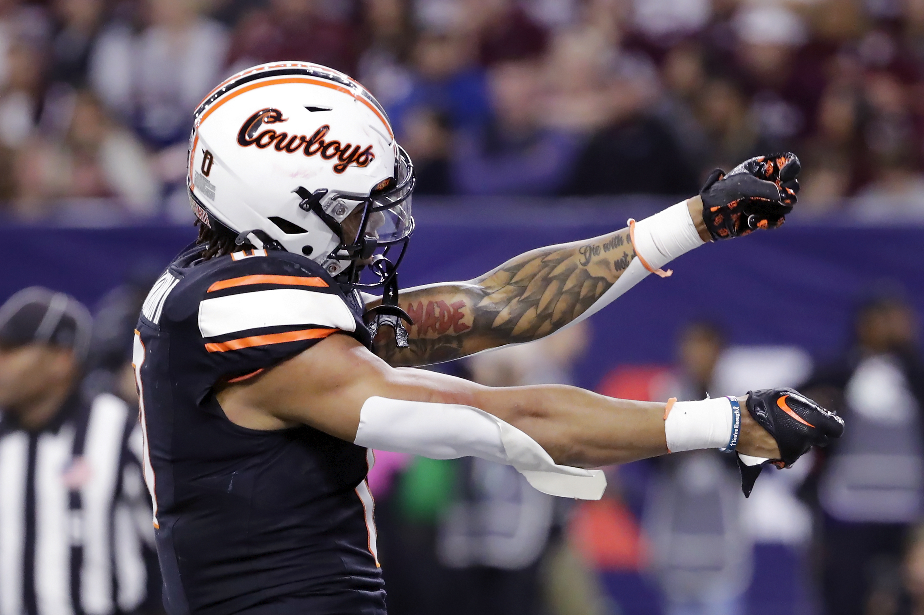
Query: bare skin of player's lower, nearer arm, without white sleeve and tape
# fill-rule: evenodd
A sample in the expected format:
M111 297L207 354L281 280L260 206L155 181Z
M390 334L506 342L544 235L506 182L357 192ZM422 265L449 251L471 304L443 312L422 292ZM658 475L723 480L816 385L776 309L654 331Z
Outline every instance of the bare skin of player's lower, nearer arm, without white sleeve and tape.
M663 403L614 399L564 385L485 387L423 369L391 368L346 335L332 335L218 392L225 414L242 427L307 424L351 442L371 397L479 408L525 432L558 464L595 467L668 452ZM778 457L775 441L747 414L741 414L738 450Z

